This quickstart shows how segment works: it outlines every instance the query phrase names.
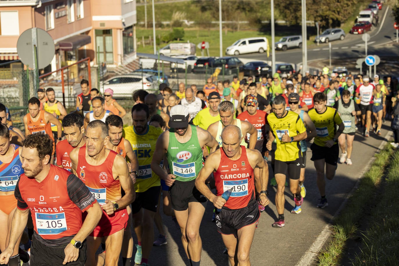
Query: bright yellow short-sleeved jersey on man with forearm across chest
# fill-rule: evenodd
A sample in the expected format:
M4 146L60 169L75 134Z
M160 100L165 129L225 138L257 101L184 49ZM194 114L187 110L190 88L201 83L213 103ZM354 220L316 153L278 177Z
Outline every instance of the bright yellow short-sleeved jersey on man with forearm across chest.
M276 138L277 149L275 159L282 162L290 162L302 158L299 141L281 141L282 136L286 133L288 136L294 137L306 131L305 125L299 115L295 112L287 111L287 114L281 118L271 113L266 119L273 136Z

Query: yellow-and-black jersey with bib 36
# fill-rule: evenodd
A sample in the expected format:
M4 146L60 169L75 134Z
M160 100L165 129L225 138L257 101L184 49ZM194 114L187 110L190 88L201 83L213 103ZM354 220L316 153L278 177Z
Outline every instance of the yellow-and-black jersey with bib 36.
M336 133L336 125L342 123L342 119L334 108L326 106L326 110L319 114L316 109L308 112L310 119L316 127L317 136L313 143L325 147L326 141L332 140Z

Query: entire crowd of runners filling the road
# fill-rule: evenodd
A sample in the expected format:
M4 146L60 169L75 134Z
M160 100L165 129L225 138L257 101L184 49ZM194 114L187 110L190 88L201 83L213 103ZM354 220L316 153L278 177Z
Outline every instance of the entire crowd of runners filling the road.
M269 183L278 214L272 227L285 226L286 186L291 213L302 211L308 147L320 192L315 207L324 208L326 179L338 161L352 164L357 130L380 135L393 119L392 145L399 145L390 77L234 76L209 78L199 89L180 83L175 93L162 83L157 95L134 93L132 125L124 125L126 110L111 89L100 95L86 80L81 89L68 114L52 88L39 88L28 101L25 132L0 103L0 264L118 265L121 257L123 265L149 265L153 246L167 244L162 203L198 266L210 201L230 264L250 265Z

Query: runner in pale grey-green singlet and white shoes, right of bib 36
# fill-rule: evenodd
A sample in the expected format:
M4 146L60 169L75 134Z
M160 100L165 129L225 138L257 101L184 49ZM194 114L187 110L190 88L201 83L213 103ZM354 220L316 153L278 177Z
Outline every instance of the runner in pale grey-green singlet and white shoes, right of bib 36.
M356 115L360 115L361 111L355 100L351 100L351 93L349 90L342 91L342 99L338 100L334 108L337 110L342 122L344 122L344 130L338 137L338 144L342 151L340 163L346 162L352 165L350 159L353 150L353 140L356 134Z

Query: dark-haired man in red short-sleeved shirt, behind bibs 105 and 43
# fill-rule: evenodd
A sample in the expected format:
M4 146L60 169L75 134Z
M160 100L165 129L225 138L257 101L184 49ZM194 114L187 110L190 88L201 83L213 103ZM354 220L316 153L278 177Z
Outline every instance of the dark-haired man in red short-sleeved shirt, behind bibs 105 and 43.
M85 127L83 126L83 118L79 114L67 114L62 120L65 140L61 140L55 146L57 154L57 166L71 171L72 162L69 158L74 148L85 146Z

